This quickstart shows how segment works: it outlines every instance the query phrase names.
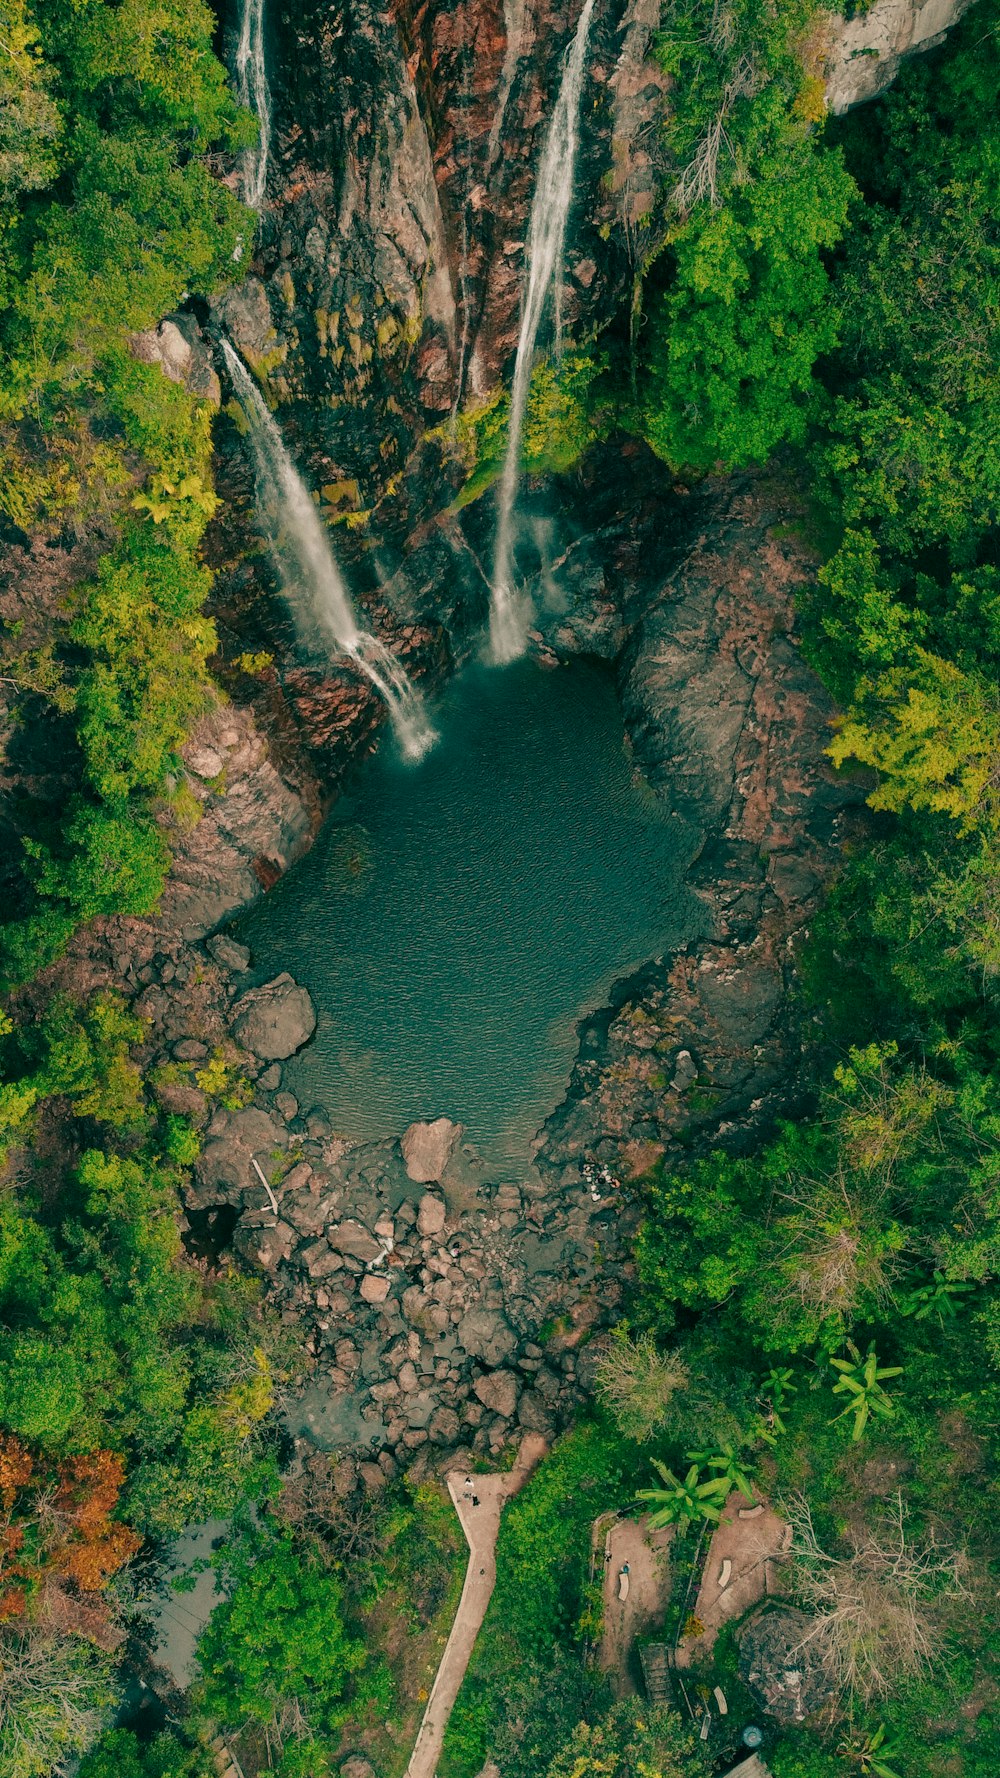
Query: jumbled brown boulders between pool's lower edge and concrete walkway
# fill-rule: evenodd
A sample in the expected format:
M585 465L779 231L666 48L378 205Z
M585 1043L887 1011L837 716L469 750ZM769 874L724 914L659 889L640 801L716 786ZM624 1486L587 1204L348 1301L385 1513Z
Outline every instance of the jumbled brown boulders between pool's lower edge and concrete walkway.
M274 1166L278 1149L290 1166ZM265 1156L270 1189L253 1175ZM358 1451L367 1485L459 1446L496 1456L569 1419L591 1380L585 1337L614 1317L625 1277L612 1255L594 1293L594 1243L612 1246L600 1216L619 1223L619 1207L578 1172L555 1193L537 1177L496 1184L447 1118L351 1145L320 1115L283 1127L254 1106L208 1125L192 1207L221 1193L238 1200L237 1252L267 1271L315 1358L288 1426Z

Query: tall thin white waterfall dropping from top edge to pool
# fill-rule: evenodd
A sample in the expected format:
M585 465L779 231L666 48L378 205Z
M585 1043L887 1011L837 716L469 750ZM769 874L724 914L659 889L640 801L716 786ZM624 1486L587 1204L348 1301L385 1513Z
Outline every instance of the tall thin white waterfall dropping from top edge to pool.
M495 661L511 661L525 653L528 608L512 585L514 501L521 471L521 432L532 380L532 359L537 331L550 290L562 286L562 247L566 219L573 201L573 164L580 133L580 92L584 87L584 59L594 0L585 0L577 34L566 57L559 98L544 139L537 171L536 196L525 247L527 284L521 297L521 329L511 386L511 420L507 427L507 457L500 478L496 544L493 549L493 596L489 603L489 645Z

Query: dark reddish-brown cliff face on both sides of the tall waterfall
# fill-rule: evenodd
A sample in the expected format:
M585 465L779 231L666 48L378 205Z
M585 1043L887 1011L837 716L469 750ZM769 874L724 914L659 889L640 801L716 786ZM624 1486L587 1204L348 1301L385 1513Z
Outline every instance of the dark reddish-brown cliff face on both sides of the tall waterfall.
M562 311L598 331L653 206L658 0L591 34ZM276 151L251 279L222 304L270 377L329 516L393 533L447 503L418 439L502 380L541 139L577 0L306 0L270 9ZM441 498L445 493L445 498Z

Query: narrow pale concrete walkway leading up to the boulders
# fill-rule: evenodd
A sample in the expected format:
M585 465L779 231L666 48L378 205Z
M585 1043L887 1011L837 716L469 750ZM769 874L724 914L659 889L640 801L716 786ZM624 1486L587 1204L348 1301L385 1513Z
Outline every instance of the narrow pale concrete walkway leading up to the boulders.
M448 1718L496 1582L500 1513L505 1501L518 1488L523 1488L534 1467L544 1456L544 1438L537 1433L528 1433L521 1442L518 1462L509 1474L475 1476L472 1470L452 1470L447 1478L448 1494L452 1495L468 1543L468 1568L452 1634L441 1655L420 1734L416 1735L416 1746L406 1767L406 1778L434 1778L438 1771L445 1728L448 1726ZM472 1479L470 1486L466 1486L466 1476ZM472 1504L473 1495L479 1506Z

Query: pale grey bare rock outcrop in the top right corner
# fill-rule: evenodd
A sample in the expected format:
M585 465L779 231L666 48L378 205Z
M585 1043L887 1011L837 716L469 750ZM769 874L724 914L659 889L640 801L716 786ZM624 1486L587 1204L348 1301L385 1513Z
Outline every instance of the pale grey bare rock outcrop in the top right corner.
M851 110L884 92L904 57L932 50L973 0L874 0L826 23L826 101Z

